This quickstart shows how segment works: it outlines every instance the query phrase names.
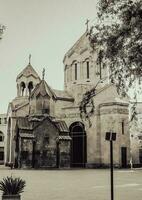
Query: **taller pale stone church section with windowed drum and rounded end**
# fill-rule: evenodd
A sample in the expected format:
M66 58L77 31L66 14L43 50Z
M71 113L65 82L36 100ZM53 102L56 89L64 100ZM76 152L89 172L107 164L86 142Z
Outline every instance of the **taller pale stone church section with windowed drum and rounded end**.
M92 126L86 122L87 161L86 166L108 166L109 144L105 141L107 131L115 131L117 140L114 144L114 164L129 165L130 136L128 127L128 101L121 99L115 87L109 82L109 71L97 64L98 47L91 52L86 34L75 43L64 57L65 90L75 99L73 106L64 107L61 116L70 127L75 121L80 121L79 104L83 94L98 84L95 104L95 114L91 117ZM77 68L77 69L76 69ZM101 76L100 76L101 73ZM127 164L126 164L127 163Z

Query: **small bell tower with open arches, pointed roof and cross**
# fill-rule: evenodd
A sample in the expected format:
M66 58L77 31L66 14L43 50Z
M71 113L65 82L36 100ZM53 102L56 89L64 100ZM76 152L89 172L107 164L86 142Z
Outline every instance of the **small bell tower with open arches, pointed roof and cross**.
M37 72L31 65L31 55L26 68L17 76L17 97L29 97L35 86L40 82Z

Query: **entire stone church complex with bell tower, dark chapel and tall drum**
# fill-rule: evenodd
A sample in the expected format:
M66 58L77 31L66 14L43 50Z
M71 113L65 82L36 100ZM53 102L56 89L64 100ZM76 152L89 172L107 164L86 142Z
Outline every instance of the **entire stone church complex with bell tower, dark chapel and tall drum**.
M17 76L17 97L8 106L6 163L17 168L106 167L108 131L116 132L114 165L130 161L128 102L97 63L86 32L65 54L64 90L51 88L29 64ZM103 81L99 81L102 79ZM99 83L99 84L98 84ZM92 125L80 118L83 94L96 84Z

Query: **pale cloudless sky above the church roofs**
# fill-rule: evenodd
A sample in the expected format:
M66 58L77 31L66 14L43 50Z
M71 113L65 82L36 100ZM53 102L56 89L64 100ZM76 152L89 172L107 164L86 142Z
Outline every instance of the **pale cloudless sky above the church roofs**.
M0 113L16 97L16 76L31 64L54 89L63 89L63 57L96 19L97 0L0 0Z

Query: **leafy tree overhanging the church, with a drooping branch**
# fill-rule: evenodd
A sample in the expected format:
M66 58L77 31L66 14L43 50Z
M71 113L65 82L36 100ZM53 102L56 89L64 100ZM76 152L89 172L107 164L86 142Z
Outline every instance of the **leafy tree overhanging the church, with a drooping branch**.
M136 101L141 93L142 81L142 0L99 0L98 23L88 31L92 50L100 47L98 62L109 66L110 80L117 92L125 97L134 92L131 119L136 117ZM81 116L87 118L87 105L94 107L92 97L96 88L87 92L80 105Z

